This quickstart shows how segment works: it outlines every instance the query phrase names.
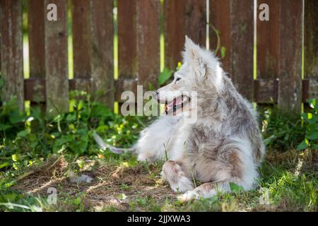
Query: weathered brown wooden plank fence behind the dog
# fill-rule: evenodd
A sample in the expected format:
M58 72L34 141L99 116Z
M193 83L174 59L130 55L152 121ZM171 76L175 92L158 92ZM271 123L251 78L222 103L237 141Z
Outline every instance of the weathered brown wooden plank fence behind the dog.
M269 21L258 19L262 3L269 5ZM57 5L57 21L47 20L47 4ZM30 78L24 79L22 0L0 0L0 62L5 80L2 96L8 100L16 95L21 109L24 100L46 103L47 111L53 109L54 113L55 107L67 111L69 90L87 90L99 92L99 100L112 107L123 90L136 90L137 84L145 85L145 89L148 83L156 85L161 25L165 66L175 69L181 61L184 35L203 46L209 37L210 49L216 48L212 27L206 34L209 20L220 31L220 45L226 48L221 61L240 93L258 103L273 100L284 109L300 112L302 102L318 97L318 1L305 0L303 4L302 0L258 0L255 7L257 20L254 0L165 0L163 4L159 0L73 0L74 76L69 79L67 1L28 0Z

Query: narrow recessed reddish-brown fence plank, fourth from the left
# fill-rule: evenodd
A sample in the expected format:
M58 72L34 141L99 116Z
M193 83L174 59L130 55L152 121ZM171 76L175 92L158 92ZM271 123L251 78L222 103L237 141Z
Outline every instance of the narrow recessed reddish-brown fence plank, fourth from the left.
M90 78L90 2L72 0L74 78ZM90 84L76 83L76 90L90 93Z

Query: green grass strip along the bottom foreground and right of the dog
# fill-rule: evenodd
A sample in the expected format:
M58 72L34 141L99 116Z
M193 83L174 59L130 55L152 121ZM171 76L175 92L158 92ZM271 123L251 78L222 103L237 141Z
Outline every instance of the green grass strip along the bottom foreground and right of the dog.
M90 195L78 191L76 194L59 193L57 204L50 205L47 195L30 196L8 189L2 191L0 210L5 211L317 211L317 171L311 166L312 153L285 153L280 162L281 154L270 151L271 162L261 166L259 188L254 191L235 191L232 194L218 194L212 198L201 199L189 203L179 203L175 198L158 200L149 194L132 194L131 186L120 184L117 198L120 204L90 202ZM295 157L295 161L293 158ZM129 167L141 164L132 156L126 158ZM277 162L276 162L277 161ZM111 163L119 167L122 160L113 156L102 164ZM158 177L160 164L155 165L157 174L148 177ZM164 185L162 185L164 186ZM111 188L110 188L111 189ZM267 192L267 193L266 193ZM136 193L136 192L135 192ZM264 197L264 198L261 198ZM2 200L1 200L2 199ZM261 203L260 200L265 200Z

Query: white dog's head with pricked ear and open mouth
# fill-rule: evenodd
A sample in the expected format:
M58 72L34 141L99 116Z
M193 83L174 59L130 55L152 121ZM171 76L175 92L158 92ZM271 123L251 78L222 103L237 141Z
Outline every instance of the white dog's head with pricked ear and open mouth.
M218 59L201 49L186 36L183 64L173 81L156 91L155 98L165 104L165 114L179 114L194 109L200 98L211 97L222 88L222 69Z

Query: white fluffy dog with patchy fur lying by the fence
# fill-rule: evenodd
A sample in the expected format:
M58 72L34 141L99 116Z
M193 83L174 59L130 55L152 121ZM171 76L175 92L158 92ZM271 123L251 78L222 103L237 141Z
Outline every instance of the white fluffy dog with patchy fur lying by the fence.
M174 80L155 95L166 102L165 113L175 116L154 121L133 149L140 161L167 155L162 177L173 191L182 193L181 201L229 192L230 182L252 189L265 153L257 114L237 93L213 53L188 37L184 49ZM189 95L193 91L196 98ZM197 119L189 124L194 111ZM194 179L202 184L194 187Z

